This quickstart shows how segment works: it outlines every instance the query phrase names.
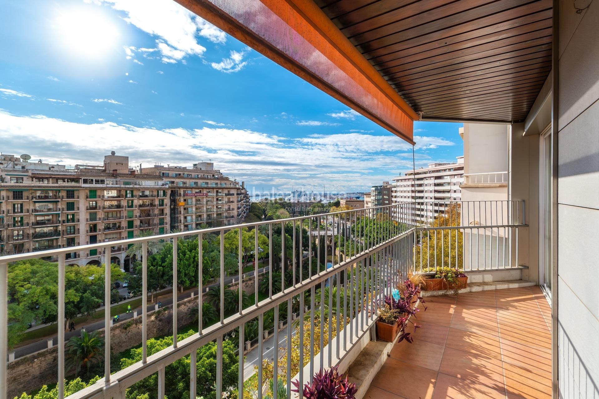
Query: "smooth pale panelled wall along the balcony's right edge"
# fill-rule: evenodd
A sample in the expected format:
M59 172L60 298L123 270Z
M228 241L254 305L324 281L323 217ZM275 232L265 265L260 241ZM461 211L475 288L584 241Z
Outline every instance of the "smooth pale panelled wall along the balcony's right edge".
M589 5L590 4L590 5ZM577 13L579 8L589 7ZM558 387L599 397L599 2L559 1ZM554 152L555 155L555 152ZM555 180L554 180L555 182Z

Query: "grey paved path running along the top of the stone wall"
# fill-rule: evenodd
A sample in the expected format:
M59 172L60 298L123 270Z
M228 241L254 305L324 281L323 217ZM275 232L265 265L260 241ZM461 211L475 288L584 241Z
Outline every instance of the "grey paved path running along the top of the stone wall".
M262 273L265 273L265 272L268 272L268 266L265 266L265 267L262 267L261 269L258 269L258 274L259 275L262 274ZM252 277L253 275L254 275L254 270L252 270L250 272L247 272L247 273L244 273L243 277L247 278L247 277ZM237 279L237 278L238 278L238 276L227 276L227 277L225 277L225 285L231 284L231 282L233 281L233 279ZM205 288L216 287L219 284L220 284L220 282L216 281L216 282L214 282L212 284L205 285L202 288L204 288L204 292L205 292ZM119 290L119 292L122 291L122 290L125 290L125 294L126 294L127 288L122 288L121 287L121 289ZM192 293L193 293L193 296L197 296L198 295L198 288L195 288L195 290L189 290L189 291L185 291L184 293L180 293L179 296L177 296L177 300L178 301L182 301L182 300L185 300L185 299L189 299L191 297ZM169 305L173 304L173 296L170 295L170 296L167 297L167 299L161 300L161 304L162 304L162 307L169 306ZM155 304L150 304L147 307L147 311L148 312L150 312L150 311L152 311L154 309L155 309ZM132 309L131 313L122 313L122 314L120 314L118 322L120 323L120 322L123 322L123 321L126 321L128 319L133 318L133 311L135 311L135 310L137 310L138 315L141 316L141 310L142 310L142 308L140 306L140 307L137 307L137 309ZM111 315L111 316L114 316L114 315ZM91 332L91 331L95 331L95 330L99 330L101 328L104 328L104 319L101 319L100 321L93 322L93 323L90 323L90 324L87 324L87 325L76 325L75 327L77 327L77 329L75 331L67 331L65 333L65 342L68 341L71 337L78 336L79 334L81 334L81 328L85 328L85 330L88 333ZM58 325L57 325L57 328L58 328ZM23 345L23 346L20 346L19 348L15 348L14 349L14 358L18 359L20 357L32 354L34 352L46 349L48 347L48 340L50 340L50 338L51 337L46 337L44 339L39 340L38 342L33 342L33 343L28 344L28 345ZM54 345L58 345L58 331L57 331L57 335L52 337L52 345L53 346Z

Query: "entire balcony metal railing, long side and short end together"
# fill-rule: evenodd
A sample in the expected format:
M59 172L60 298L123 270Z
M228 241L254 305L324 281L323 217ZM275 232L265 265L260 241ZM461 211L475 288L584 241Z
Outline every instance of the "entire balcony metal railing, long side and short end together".
M246 343L245 327L249 323L257 325L258 362L256 364L256 380L258 386L267 386L264 379L263 361L271 360L273 364L273 380L281 377L286 384L287 392L291 391L291 381L300 382L311 380L314 371L321 367L331 367L339 364L352 348L358 348L358 343L370 334L370 328L376 321L380 299L391 293L402 278L409 272L431 272L436 267L452 266L466 270L497 269L497 260L514 259L512 263L504 263L504 268L518 266L518 229L525 225L523 201L482 201L482 202L434 202L426 203L424 211L435 215L428 223L419 219L421 204L413 202L400 203L390 206L379 206L368 209L353 209L351 211L332 212L320 215L308 215L283 220L262 221L235 226L213 227L210 229L190 230L179 233L162 234L152 237L137 237L134 239L116 240L110 243L94 243L92 245L74 246L35 254L19 254L0 257L0 297L7 297L7 269L14 261L27 260L37 257L58 257L58 320L65 319L65 255L72 252L83 252L96 249L98 255L110 259L114 246L128 248L129 245L141 246L140 253L146 254L149 242L159 240L173 243L172 273L173 281L179 281L178 276L178 243L180 239L195 239L198 237L198 296L193 297L195 303L204 303L205 285L202 284L203 246L204 238L208 245L216 245L220 260L212 265L219 276L216 280L219 289L219 301L216 307L217 320L214 324L204 325L202 321L202 306L198 306L198 332L183 339L177 339L178 310L177 306L170 308L172 313L171 331L173 345L155 354L148 355L147 340L150 338L147 306L141 312L141 361L122 370L111 373L110 340L111 334L105 334L104 377L93 385L75 392L69 397L79 398L123 398L125 389L133 383L144 379L150 374L157 373L158 398L164 398L165 383L168 376L165 367L183 357L191 357L189 386L191 397L196 396L196 356L198 349L207 343L216 341L216 381L214 392L216 398L225 393L237 391L238 398L244 397L244 382L246 382L244 358L239 357L239 375L234 386L223 385L223 342L237 334L235 340L238 353L244 353ZM243 304L243 290L238 290L238 300L235 309L225 311L225 234L237 234L238 273L235 280L245 278L244 287L253 288L254 301L249 306ZM243 239L249 232L252 248L244 248ZM285 234L282 234L285 232ZM274 251L273 238L279 240L280 252ZM475 234L479 234L476 236ZM503 234L503 235L502 235ZM486 237L480 240L480 236ZM490 237L490 239L488 238ZM291 245L287 242L291 239ZM468 241L469 240L469 241ZM473 240L476 243L473 243ZM503 242L503 249L498 251L498 242ZM259 246L261 242L261 246ZM268 243L268 244L267 244ZM489 245L489 247L485 246ZM493 246L490 246L493 245ZM291 248L290 248L291 247ZM231 250L230 242L227 244ZM481 248L483 249L481 251ZM492 248L486 251L486 248ZM509 248L507 251L506 248ZM291 251L289 251L291 249ZM424 250L426 249L426 251ZM473 252L476 249L476 252ZM245 277L244 253L251 251L259 254L258 262L264 272ZM468 252L470 251L470 252ZM480 252L479 252L480 251ZM304 255L307 252L307 256ZM477 254L473 256L473 253ZM506 254L503 258L497 254ZM491 261L484 260L491 254ZM446 256L447 255L447 256ZM436 258L435 258L436 256ZM455 260L454 260L455 258ZM475 259L478 259L476 263ZM216 258L217 259L217 258ZM432 259L432 260L431 260ZM470 260L471 259L471 260ZM482 260L482 261L481 261ZM141 257L142 293L148 294L148 260ZM262 263L262 264L260 264ZM251 264L251 263L250 263ZM170 265L167 265L170 266ZM111 268L104 266L105 303L110 303ZM229 266L230 267L230 266ZM431 270L432 267L432 270ZM279 275L279 279L274 277ZM265 279L261 286L261 280ZM171 284L173 303L178 303L179 291L177 284ZM253 287L252 287L253 286ZM320 296L322 300L316 303L316 294L329 293ZM265 299L260 300L259 293ZM336 299L334 297L336 296ZM328 304L326 301L328 300ZM333 306L333 301L335 306ZM280 309L287 309L286 315L280 315ZM341 310L343 309L343 310ZM286 335L297 336L299 346L292 347L292 339L288 339L286 348L275 344L271 354L265 354L264 331L265 316L273 312L274 326L279 321L285 322ZM270 314L270 313L269 313ZM7 352L7 303L0 302L0 359L8 357ZM294 320L292 315L297 315ZM110 312L104 314L105 331L110 331L112 325ZM335 316L335 318L333 317ZM270 316L269 316L270 317ZM336 327L335 327L336 324ZM306 330L308 326L308 330ZM325 326L328 334L325 334ZM314 332L320 329L320 343L315 341ZM332 330L336 331L332 334ZM274 328L274 342L279 342L280 331ZM252 341L253 337L247 337ZM309 340L309 345L304 340ZM305 345L304 345L305 344ZM135 344L134 344L135 345ZM294 344L295 345L295 344ZM299 351L299 352L298 352ZM58 398L64 397L65 377L65 331L62 323L58 327ZM279 364L282 355L286 355L287 364ZM299 371L291 371L292 355L299 359ZM295 355L298 355L296 358ZM305 367L302 367L304 366ZM297 365L296 365L297 366ZM285 370L278 375L279 370ZM7 363L0 362L0 399L7 399ZM265 392L258 390L261 398ZM273 397L276 394L273 392Z

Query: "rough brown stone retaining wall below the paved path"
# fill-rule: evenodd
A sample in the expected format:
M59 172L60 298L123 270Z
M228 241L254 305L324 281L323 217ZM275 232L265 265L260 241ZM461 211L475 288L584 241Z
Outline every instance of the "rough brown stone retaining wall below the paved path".
M252 285L253 287L253 285ZM182 300L177 306L177 325L189 325L197 313L198 297ZM104 336L104 328L101 335ZM140 345L141 314L113 325L110 329L110 349L113 353ZM173 308L165 306L148 313L148 338L170 335L173 331ZM68 361L66 362L68 364ZM67 374L68 375L68 374ZM8 363L8 398L31 392L42 385L56 383L58 379L58 346L35 352Z

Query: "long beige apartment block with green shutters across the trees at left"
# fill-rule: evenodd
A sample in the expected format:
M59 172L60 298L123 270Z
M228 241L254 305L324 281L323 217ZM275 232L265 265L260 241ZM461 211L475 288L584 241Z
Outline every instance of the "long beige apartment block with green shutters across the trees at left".
M245 190L210 167L191 176L183 171L193 169L181 167L163 170L155 166L139 173L129 167L128 157L114 151L104 157L102 165L74 167L29 162L26 155L2 155L0 252L19 254L111 242L140 233L199 229L202 223L234 224ZM170 175L165 178L163 173ZM132 260L125 252L124 246L113 246L111 262L128 270ZM66 259L74 264L104 262L97 249L72 252Z

